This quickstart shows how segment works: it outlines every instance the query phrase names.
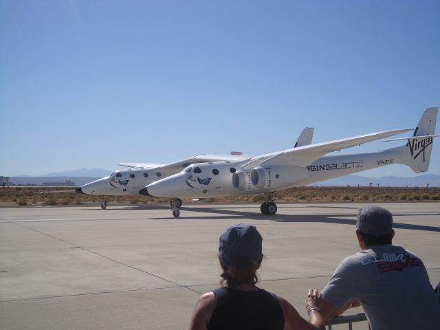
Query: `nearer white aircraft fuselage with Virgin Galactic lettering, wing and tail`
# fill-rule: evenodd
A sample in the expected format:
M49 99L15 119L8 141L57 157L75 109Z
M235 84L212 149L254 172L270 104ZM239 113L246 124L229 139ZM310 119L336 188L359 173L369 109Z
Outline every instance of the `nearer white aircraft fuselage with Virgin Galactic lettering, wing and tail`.
M256 157L192 164L180 173L148 184L140 190L140 194L170 198L206 198L262 193L265 202L261 204L261 212L275 214L277 207L272 201L272 192L277 190L304 186L391 164L406 164L415 173L426 172L433 137L440 136L434 135L437 112L438 108L426 109L412 136L386 140L406 141L404 146L397 148L376 153L325 156L343 148L412 130L382 131L330 142L305 144ZM179 217L178 208L172 210L173 215Z

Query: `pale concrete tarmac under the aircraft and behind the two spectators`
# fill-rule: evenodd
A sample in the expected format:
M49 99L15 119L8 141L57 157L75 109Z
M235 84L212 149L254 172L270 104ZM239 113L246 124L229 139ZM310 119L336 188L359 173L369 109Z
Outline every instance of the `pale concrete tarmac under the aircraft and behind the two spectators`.
M307 318L307 289L360 250L364 205L278 204L275 216L257 204L190 205L179 218L167 206L1 208L0 329L187 329L197 298L219 286L220 234L241 222L263 236L258 285ZM380 205L393 213L393 243L418 254L436 285L440 203Z

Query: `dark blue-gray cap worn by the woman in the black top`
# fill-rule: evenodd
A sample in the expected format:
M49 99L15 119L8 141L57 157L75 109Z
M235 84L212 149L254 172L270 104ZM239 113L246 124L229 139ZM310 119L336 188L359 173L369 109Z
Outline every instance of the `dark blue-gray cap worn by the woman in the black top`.
M254 263L261 262L263 237L254 225L232 225L220 236L219 253L223 265L229 267L234 256L247 256Z

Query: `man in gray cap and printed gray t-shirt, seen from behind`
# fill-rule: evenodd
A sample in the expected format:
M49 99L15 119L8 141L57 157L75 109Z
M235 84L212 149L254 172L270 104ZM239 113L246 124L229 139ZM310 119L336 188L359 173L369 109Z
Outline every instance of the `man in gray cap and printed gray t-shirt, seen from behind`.
M373 330L439 329L440 303L426 268L415 254L391 244L392 224L384 208L359 210L362 251L344 259L322 290L325 320L362 305Z

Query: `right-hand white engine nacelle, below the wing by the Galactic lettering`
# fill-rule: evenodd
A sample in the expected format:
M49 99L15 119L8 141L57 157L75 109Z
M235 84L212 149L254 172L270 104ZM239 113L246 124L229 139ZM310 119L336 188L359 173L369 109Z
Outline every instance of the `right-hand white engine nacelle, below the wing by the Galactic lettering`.
M257 189L277 189L292 186L309 177L306 168L296 166L259 166L250 173L252 186Z

